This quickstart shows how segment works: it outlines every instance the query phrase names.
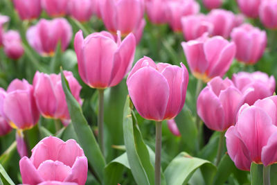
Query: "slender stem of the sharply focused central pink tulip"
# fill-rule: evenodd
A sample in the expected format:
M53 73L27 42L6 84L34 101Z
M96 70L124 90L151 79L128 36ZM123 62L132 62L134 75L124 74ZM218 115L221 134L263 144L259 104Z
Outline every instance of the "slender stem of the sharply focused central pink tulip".
M161 184L161 121L156 122L155 185Z

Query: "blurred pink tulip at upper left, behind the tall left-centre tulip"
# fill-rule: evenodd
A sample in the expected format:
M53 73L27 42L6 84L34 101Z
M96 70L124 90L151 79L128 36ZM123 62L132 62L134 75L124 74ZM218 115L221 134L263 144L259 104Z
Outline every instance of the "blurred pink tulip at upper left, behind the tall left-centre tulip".
M30 46L40 55L53 56L58 42L65 51L72 37L72 28L64 18L40 19L35 26L28 28L26 37Z

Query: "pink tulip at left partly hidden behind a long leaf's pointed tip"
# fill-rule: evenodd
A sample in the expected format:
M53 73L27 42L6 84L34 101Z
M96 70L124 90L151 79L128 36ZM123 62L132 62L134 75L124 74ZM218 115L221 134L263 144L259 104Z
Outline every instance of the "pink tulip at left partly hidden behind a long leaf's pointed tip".
M69 87L74 98L82 105L80 90L82 87L70 71L64 71L64 76L69 82ZM40 114L45 118L62 120L66 126L70 121L69 110L66 104L60 74L35 73L33 80L34 96Z

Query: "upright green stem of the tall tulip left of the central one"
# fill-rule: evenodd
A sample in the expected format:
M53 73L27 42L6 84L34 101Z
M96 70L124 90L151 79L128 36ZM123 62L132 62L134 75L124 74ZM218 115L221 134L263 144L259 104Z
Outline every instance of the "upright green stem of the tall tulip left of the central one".
M98 89L98 143L104 155L104 89Z

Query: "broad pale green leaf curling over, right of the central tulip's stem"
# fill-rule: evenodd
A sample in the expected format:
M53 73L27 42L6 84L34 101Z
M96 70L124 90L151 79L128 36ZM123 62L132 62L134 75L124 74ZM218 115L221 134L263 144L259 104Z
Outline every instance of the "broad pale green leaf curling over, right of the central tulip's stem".
M204 170L206 174L202 171L202 175L206 184L210 184L211 178L215 175L216 167L210 161L191 157L186 152L181 152L166 168L166 183L175 185L187 184L198 168ZM207 179L208 176L210 176L209 179Z

